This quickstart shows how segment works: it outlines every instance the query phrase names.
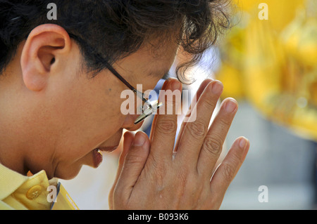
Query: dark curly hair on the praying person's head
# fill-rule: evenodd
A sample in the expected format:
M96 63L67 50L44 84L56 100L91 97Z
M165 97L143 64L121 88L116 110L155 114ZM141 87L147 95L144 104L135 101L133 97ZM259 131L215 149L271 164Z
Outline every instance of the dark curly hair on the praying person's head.
M49 3L57 6L57 20L47 18ZM194 65L228 27L224 6L222 0L0 0L0 74L18 44L44 23L66 29L94 74L151 37L168 38L175 27L180 28L178 44L193 55L186 66Z

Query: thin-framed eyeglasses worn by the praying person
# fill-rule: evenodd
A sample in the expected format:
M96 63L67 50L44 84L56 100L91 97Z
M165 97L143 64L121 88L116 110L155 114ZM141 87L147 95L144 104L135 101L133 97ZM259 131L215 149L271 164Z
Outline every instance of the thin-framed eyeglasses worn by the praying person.
M142 99L144 103L144 105L142 105L142 114L135 120L135 124L139 124L140 122L144 121L147 117L156 112L159 109L159 107L163 105L163 103L159 103L158 100L150 102L149 100L144 98L144 93L137 91L133 86L131 86L128 83L128 81L123 79L123 77L121 77L121 75L110 64L107 63L106 67L112 74L114 74L118 79L120 79L120 81L122 81L123 84L125 84L125 86L128 86L128 88L130 88L130 90L132 90L133 93L135 93L139 98Z

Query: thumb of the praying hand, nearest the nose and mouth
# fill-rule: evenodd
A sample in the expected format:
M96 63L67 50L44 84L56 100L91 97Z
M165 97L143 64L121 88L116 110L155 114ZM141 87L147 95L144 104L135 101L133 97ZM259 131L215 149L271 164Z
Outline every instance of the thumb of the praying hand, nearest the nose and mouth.
M132 145L125 156L122 172L118 178L116 186L117 197L123 199L130 197L132 189L147 162L149 147L150 143L147 134L143 132L136 133Z

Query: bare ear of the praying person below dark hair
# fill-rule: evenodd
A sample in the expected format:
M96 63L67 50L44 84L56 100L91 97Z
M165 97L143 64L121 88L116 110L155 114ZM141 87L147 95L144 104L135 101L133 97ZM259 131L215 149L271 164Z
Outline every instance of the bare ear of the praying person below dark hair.
M32 91L44 89L50 75L54 73L54 66L67 58L70 49L70 37L63 27L53 24L35 27L27 37L21 53L25 86Z

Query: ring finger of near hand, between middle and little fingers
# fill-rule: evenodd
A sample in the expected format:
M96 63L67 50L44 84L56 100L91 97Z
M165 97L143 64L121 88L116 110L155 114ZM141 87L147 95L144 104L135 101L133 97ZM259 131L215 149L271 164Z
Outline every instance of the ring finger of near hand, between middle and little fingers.
M210 180L216 162L223 149L232 120L237 113L237 101L232 98L223 100L220 111L213 120L199 154L197 170Z

